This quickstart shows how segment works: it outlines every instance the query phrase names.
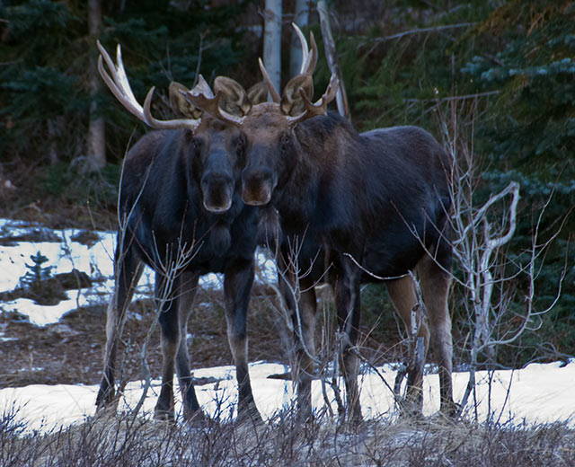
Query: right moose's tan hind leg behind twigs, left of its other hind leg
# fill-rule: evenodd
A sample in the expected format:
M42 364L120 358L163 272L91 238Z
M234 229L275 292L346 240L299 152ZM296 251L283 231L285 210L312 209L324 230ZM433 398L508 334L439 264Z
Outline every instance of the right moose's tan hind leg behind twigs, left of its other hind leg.
M407 394L403 401L403 410L411 414L420 414L423 408L423 365L429 347L428 323L420 310L411 276L387 282L387 292L411 341Z

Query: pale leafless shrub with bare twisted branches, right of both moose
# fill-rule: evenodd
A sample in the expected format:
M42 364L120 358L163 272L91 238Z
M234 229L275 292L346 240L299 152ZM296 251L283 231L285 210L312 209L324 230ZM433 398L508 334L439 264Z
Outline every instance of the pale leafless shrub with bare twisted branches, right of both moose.
M454 276L454 282L463 296L460 304L471 330L466 343L470 378L462 407L470 395L474 395L475 370L480 360L491 367L496 366L497 348L513 344L526 330L539 329L544 315L561 295L565 275L563 269L553 302L544 309L537 309L535 281L541 272L544 253L562 227L559 225L551 236L542 240L541 222L553 193L535 212L532 244L527 251L521 252L526 260L520 260L518 254L512 255L508 249L517 227L519 184L512 181L482 204L477 200L482 161L473 151L475 104L448 101L447 105L438 103L437 106L444 145L453 162L451 226L459 272ZM525 295L520 294L517 283L524 285Z

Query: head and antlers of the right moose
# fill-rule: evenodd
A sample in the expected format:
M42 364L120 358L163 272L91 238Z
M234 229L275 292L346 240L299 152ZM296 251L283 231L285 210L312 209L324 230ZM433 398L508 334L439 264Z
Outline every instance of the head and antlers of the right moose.
M313 33L309 48L304 34L297 28L303 60L299 75L289 80L279 95L270 76L260 60L263 84L267 87L271 102L262 102L261 88L245 91L241 84L230 78L216 79L216 96L209 99L205 93L190 93L189 99L199 109L214 119L232 125L239 130L237 137L237 162L242 169L243 202L252 206L270 202L274 189L288 181L296 167L299 141L297 125L317 115L323 115L327 104L337 93L337 79L332 75L323 96L312 102L314 81L312 75L317 64L317 45ZM232 110L236 110L232 113ZM237 110L242 110L238 117Z

